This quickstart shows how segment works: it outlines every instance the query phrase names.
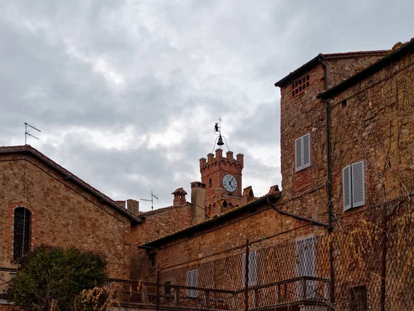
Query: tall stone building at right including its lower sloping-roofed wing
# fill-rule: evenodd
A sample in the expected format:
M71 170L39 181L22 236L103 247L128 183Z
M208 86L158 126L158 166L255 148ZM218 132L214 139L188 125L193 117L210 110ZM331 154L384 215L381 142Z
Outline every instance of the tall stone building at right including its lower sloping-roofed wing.
M275 187L142 245L152 261L144 279L154 280L159 267L162 282L207 288L204 301L211 284L233 290L233 307L221 307L237 308L248 240L255 272L248 305L282 308L283 283L285 292L297 292L293 310L408 310L414 292L404 289L411 284L404 270L413 262L399 247L413 251L413 52L412 40L393 50L319 54L276 82L282 192ZM270 261L270 253L282 260ZM305 285L295 281L300 276L308 277ZM272 282L266 294L273 300L258 302Z

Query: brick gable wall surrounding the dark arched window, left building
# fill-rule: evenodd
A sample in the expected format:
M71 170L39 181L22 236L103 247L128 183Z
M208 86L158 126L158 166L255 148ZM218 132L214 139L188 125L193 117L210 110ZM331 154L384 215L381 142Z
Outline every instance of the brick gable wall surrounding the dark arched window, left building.
M129 276L126 216L33 156L1 155L0 183L0 267L15 267L14 209L24 206L32 212L31 248L77 247L106 258L110 277Z

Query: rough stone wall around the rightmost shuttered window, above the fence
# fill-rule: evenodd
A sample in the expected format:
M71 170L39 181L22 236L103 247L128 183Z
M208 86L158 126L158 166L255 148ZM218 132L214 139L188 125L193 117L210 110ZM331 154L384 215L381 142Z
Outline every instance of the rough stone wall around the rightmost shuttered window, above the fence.
M413 194L413 62L407 55L331 99L333 206L345 227L368 207ZM344 212L342 169L359 160L366 205Z

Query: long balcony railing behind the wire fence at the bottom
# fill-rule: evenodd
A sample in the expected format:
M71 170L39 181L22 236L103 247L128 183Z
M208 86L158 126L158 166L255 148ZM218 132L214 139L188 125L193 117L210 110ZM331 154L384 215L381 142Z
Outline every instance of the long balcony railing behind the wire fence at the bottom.
M142 310L268 310L328 305L328 279L302 276L239 290L199 288L144 281L110 280L123 308ZM294 308L295 309L295 308ZM282 310L282 309L281 309Z

